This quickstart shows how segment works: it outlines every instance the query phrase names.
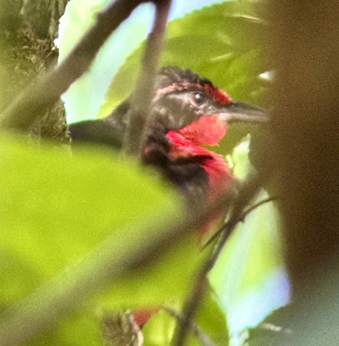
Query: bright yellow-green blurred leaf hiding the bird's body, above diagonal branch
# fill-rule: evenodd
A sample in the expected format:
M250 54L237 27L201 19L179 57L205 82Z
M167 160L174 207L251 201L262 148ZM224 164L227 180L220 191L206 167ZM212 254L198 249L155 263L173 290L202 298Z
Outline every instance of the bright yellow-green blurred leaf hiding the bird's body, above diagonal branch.
M42 277L55 275L140 215L163 203L170 211L178 205L135 163L102 150L69 155L5 141L1 177L1 247L12 256L15 249ZM133 242L133 234L123 236L117 242Z

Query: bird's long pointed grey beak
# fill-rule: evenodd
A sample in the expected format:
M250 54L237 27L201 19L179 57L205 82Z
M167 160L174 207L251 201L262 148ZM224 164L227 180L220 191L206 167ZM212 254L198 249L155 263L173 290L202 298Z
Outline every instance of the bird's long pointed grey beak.
M219 109L218 118L227 123L265 123L269 120L264 109L240 101L232 101L229 106L225 106L222 109Z

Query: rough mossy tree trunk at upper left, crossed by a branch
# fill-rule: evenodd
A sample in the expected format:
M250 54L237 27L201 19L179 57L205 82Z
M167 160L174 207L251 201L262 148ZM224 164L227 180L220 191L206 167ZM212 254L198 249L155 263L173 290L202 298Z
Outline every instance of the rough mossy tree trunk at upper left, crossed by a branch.
M57 61L54 39L67 0L0 0L0 111ZM31 126L30 135L68 142L61 100Z

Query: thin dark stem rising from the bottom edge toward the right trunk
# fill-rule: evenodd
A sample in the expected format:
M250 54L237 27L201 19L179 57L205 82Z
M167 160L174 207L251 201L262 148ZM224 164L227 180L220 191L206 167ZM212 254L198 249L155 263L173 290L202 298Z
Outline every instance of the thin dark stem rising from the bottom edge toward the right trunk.
M267 179L267 175L268 172L262 173L261 175L254 173L249 177L248 180L244 182L242 189L239 191L239 195L235 200L235 204L231 212L230 220L227 227L225 228L225 231L222 233L220 242L218 243L217 248L214 250L212 256L209 257L202 266L200 272L196 277L193 290L186 300L183 308L183 315L186 317L186 319L183 321L183 323L177 325L177 330L173 338L173 345L184 345L189 328L188 321L194 319L196 311L198 310L200 302L204 296L205 289L207 287L207 274L213 268L228 237L239 222L239 216L242 215L249 202L253 198L255 198L256 194L262 188L264 182Z

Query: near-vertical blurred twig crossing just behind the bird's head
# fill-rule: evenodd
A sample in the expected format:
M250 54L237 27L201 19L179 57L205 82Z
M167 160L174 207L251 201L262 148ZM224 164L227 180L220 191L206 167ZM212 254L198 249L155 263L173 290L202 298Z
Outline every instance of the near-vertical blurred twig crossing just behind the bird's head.
M155 21L147 40L142 70L129 111L129 121L123 141L123 149L128 154L138 155L139 158L144 153L144 145L149 135L149 124L152 122L150 110L154 95L154 80L158 72L171 2L171 0L155 1Z

